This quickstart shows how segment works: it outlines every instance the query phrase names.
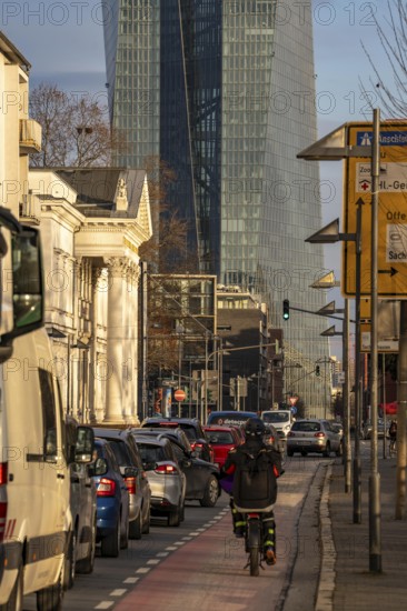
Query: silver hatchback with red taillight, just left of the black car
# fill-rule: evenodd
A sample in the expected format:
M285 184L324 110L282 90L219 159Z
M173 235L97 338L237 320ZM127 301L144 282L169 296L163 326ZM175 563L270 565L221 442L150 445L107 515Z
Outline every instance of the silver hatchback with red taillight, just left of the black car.
M135 434L151 487L151 514L166 515L169 527L183 520L186 475L169 439Z

